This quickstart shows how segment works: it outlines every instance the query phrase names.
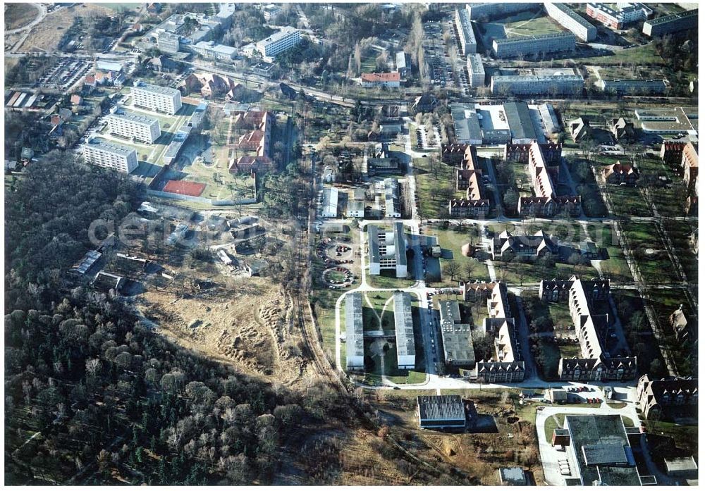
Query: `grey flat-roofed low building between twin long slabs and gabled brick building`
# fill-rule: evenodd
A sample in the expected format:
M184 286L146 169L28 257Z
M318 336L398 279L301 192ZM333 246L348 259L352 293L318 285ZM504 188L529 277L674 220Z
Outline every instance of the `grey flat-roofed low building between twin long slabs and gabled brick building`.
M460 318L460 304L456 300L439 302L441 313L441 338L443 359L446 366L467 366L475 364L472 331L470 324Z

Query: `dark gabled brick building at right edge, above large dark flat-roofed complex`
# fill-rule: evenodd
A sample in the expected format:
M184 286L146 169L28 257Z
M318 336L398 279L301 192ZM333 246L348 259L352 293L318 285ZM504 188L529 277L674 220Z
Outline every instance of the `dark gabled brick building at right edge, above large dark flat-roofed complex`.
M637 407L646 419L697 410L697 378L668 378L651 380L642 375L637 383Z

